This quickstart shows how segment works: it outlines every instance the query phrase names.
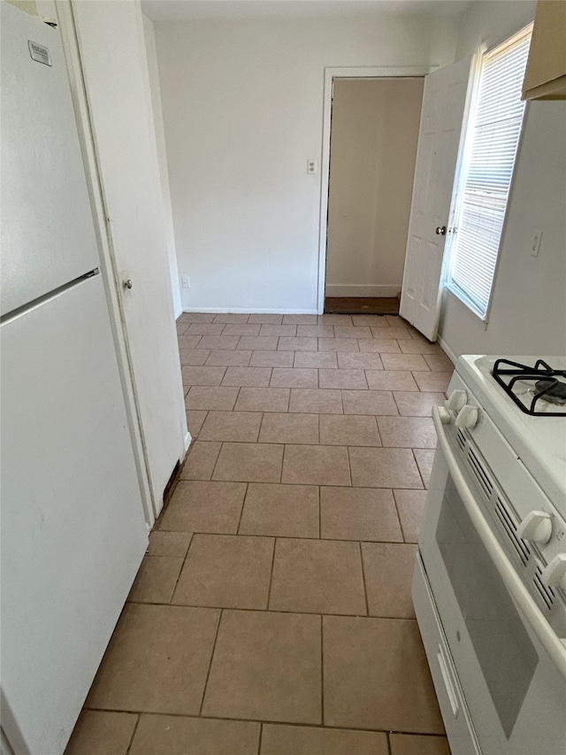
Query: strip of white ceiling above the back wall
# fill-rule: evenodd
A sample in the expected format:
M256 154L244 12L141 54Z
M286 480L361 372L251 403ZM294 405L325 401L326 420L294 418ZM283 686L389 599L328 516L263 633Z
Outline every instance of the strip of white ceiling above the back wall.
M342 18L345 16L455 16L472 0L142 0L157 21Z

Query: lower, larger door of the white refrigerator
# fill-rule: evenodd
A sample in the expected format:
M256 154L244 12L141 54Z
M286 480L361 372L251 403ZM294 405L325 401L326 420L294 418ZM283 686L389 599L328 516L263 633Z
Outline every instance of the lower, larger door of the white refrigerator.
M2 720L17 755L57 755L148 535L101 276L0 337Z

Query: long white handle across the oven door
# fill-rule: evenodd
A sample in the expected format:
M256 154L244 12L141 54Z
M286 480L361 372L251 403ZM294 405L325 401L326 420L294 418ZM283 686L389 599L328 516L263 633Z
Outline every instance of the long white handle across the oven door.
M499 541L495 535L493 535L481 509L476 503L468 482L466 482L462 471L458 466L454 451L452 451L452 448L448 443L446 431L442 424L442 420L440 419L438 406L432 407L432 420L434 421L434 428L436 428L436 434L438 435L440 449L447 462L448 471L460 497L462 497L463 505L470 515L470 519L478 532L479 538L486 546L486 550L489 553L490 558L493 560L495 568L499 572L505 586L509 589L509 593L515 600L517 607L523 613L524 618L531 626L532 631L539 638L540 643L543 645L550 658L555 662L558 671L562 674L563 678L566 679L566 638L561 638L556 635L554 629L545 619L544 614L540 611L539 606L532 598L531 593L525 588L523 582L519 579L516 570L509 562Z

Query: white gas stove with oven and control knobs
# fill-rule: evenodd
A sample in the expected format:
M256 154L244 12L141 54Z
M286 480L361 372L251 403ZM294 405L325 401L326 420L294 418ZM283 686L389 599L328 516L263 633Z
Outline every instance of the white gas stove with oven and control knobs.
M566 753L566 358L537 362L461 357L432 412L412 593L453 755Z

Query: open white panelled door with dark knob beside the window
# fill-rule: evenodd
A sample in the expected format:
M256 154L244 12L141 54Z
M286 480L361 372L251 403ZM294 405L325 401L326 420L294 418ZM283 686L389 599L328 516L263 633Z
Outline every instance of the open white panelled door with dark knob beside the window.
M460 148L471 58L424 81L417 166L400 313L430 341L440 317L440 276Z

